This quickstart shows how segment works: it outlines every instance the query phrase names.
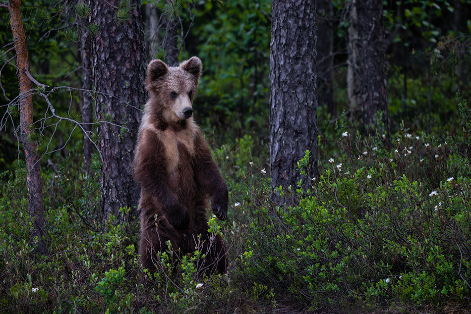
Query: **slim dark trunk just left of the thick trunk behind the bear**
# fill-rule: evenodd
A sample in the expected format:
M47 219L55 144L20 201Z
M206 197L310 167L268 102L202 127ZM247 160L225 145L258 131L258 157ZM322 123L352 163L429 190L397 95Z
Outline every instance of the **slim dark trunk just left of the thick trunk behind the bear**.
M83 129L88 134L83 135L83 168L85 173L90 176L90 162L92 160L92 153L94 150L93 143L89 140L89 137L92 134L92 121L93 121L93 97L87 92L93 87L92 79L92 63L90 60L90 35L87 34L86 29L83 29L82 32L82 47L80 49L82 57L82 76L83 83L82 89L85 91L82 92L82 123Z

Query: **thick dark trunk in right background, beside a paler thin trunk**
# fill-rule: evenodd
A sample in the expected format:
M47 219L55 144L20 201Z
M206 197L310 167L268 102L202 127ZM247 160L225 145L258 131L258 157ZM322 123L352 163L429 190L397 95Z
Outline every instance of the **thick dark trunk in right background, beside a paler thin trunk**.
M363 127L368 134L386 135L391 143L389 129L388 94L386 90L386 40L383 26L383 2L356 0L359 39L359 74ZM376 120L382 111L381 122ZM383 125L380 128L380 125Z

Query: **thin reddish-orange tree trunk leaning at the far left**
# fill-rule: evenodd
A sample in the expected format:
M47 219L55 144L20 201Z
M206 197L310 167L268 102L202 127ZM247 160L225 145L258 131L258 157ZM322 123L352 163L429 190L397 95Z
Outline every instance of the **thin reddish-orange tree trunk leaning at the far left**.
M18 67L20 133L26 159L26 168L28 170L26 176L28 210L31 219L33 219L31 241L37 237L37 251L44 254L46 247L44 244L44 204L39 162L40 157L36 154L38 142L31 137L34 133L33 95L31 94L33 83L30 79L28 46L26 45L25 32L21 21L20 2L20 0L10 0L8 11L10 14L11 31L13 33L14 49L16 52L16 66Z

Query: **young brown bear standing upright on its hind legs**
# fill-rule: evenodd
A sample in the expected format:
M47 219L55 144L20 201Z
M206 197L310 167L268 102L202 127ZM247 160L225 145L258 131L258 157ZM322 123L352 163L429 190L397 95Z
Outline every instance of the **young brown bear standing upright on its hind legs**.
M196 249L206 257L198 272L226 272L226 249L220 235L208 231L208 199L214 214L227 217L228 189L201 129L192 118L192 103L201 77L201 60L192 57L177 67L153 60L147 67L149 101L139 129L134 178L139 200L144 268L156 270L159 252L170 240L174 261Z

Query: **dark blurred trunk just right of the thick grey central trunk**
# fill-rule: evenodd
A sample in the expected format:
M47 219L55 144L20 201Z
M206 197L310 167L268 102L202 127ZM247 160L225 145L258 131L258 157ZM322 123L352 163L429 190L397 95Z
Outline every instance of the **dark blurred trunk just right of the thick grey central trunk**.
M317 0L317 103L335 116L333 14L332 0Z

